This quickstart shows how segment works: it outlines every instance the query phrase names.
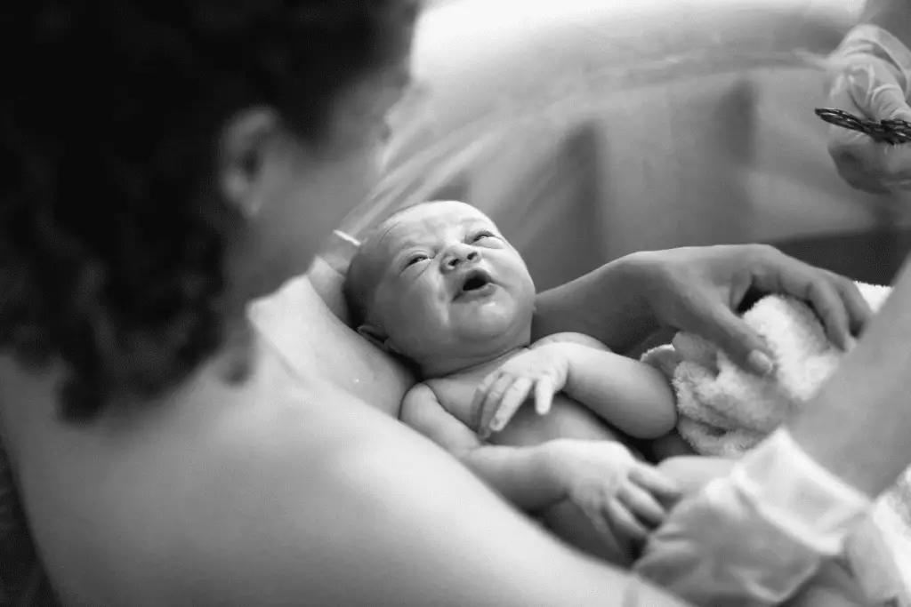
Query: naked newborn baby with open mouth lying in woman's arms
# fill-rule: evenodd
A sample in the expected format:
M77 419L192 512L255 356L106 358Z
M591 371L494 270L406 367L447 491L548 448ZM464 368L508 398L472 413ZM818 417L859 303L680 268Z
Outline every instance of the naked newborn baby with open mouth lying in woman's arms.
M673 430L660 371L579 334L532 343L526 265L463 203L386 219L358 249L344 290L363 337L411 361L423 379L404 398L404 423L564 539L621 564L635 558L680 492L612 429L637 439ZM479 432L494 411L529 398L548 416L524 408L505 428L495 420L493 436ZM685 468L678 476L691 473Z

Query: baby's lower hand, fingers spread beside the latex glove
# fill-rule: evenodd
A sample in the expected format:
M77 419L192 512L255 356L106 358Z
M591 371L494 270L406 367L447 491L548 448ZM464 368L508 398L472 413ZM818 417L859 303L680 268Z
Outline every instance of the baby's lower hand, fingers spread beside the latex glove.
M548 449L569 501L608 543L645 541L681 499L676 483L619 442L554 440Z

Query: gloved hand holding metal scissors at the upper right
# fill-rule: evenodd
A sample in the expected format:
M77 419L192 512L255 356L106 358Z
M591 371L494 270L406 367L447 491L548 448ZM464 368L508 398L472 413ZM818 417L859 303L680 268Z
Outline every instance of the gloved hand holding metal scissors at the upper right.
M857 25L830 57L828 107L874 120L911 121L911 51L876 25ZM831 126L829 153L838 174L858 189L911 189L911 144L890 146Z

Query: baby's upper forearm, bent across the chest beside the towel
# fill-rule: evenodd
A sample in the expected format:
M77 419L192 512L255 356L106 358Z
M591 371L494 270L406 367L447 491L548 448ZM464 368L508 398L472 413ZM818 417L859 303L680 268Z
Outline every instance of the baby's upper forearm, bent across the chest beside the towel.
M561 344L568 357L564 391L618 430L655 439L673 430L677 407L658 369L613 352Z

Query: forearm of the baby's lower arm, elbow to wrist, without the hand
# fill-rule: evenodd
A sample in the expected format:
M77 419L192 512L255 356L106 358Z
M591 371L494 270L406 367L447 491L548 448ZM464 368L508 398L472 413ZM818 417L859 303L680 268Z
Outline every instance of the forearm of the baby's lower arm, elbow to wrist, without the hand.
M541 511L567 496L550 463L547 445L480 447L467 451L459 460L522 511Z

